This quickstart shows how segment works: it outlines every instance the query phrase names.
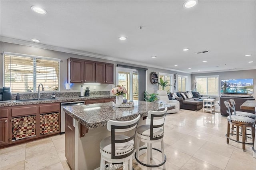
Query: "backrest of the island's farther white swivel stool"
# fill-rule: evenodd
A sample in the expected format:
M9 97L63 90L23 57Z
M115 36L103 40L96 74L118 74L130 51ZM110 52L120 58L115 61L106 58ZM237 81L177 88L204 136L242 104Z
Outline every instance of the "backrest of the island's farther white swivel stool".
M158 140L163 138L164 135L154 137L154 128L163 128L164 130L164 120L167 112L167 107L163 111L148 111L148 119L150 119L150 140Z

